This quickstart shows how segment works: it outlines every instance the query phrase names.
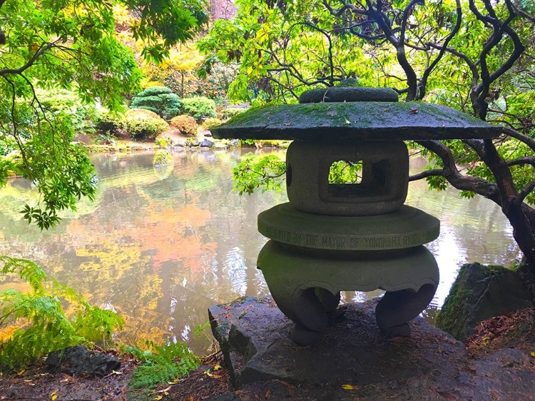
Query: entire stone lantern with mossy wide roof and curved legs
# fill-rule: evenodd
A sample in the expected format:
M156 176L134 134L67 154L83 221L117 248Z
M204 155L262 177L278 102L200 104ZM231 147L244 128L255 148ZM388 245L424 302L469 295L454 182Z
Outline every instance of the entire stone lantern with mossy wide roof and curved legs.
M327 328L341 290L385 290L375 309L388 335L429 305L439 283L423 245L439 220L404 205L409 178L405 140L492 138L497 128L446 106L398 103L387 88L338 86L307 91L299 104L252 109L213 130L215 138L290 139L289 203L258 215L270 240L258 268L292 339L315 342ZM333 163L360 163L357 183L330 183Z

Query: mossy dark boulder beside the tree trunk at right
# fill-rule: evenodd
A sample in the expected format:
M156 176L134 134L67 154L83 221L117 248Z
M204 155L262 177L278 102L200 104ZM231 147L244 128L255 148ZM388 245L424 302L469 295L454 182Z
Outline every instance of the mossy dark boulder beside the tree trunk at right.
M533 306L516 270L479 263L463 265L437 315L437 326L459 340L477 323Z

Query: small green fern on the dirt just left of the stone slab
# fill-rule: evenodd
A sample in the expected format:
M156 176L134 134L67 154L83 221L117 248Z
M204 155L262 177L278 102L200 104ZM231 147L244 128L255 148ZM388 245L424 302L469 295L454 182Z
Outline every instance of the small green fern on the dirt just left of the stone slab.
M153 387L174 380L175 377L188 375L200 363L200 358L182 342L168 342L160 346L147 341L146 345L146 351L138 347L126 347L128 352L141 361L131 378L132 389Z

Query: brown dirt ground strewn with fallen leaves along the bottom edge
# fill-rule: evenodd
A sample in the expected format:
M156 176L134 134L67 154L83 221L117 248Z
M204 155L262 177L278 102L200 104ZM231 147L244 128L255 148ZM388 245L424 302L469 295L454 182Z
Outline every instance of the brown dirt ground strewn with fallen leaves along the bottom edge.
M394 344L396 346L396 344ZM402 347L403 342L399 345ZM520 310L482 322L467 341L467 350L472 360L490 355L497 350L515 348L530 352L535 369L535 308ZM203 360L203 365L188 377L176 383L165 384L151 390L128 390L128 381L138 362L128 355L109 351L108 354L121 360L121 370L106 377L73 377L63 373L51 373L44 362L37 362L26 370L0 376L0 400L56 400L56 401L141 401L173 400L201 401L215 398L218 401L253 400L333 400L332 389L322 387L300 387L281 380L268 380L245 385L234 391L230 374L219 353ZM453 362L452 362L453 363ZM531 368L526 368L530 369ZM384 372L385 375L388 372ZM403 386L403 382L392 385ZM344 388L345 400L378 400L382 392L373 386ZM531 395L515 398L530 400ZM418 400L417 397L409 399ZM444 393L443 400L457 400L452 394Z

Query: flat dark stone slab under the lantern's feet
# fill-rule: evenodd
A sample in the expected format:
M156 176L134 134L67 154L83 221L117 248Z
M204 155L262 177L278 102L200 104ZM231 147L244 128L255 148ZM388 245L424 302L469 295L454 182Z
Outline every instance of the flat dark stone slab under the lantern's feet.
M447 383L462 372L467 360L462 342L417 318L410 323L412 337L397 345L379 332L376 304L343 305L322 340L307 347L290 339L294 324L272 298L240 298L210 307L208 314L236 387L264 380L380 387L428 376Z

